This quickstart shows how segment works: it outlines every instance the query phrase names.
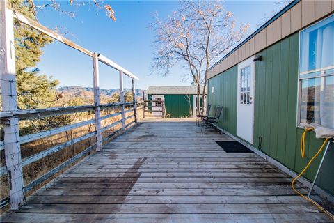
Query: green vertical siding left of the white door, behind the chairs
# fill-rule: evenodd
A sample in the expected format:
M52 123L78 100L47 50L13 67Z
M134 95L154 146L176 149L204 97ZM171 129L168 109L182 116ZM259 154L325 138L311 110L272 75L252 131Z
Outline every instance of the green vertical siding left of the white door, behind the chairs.
M237 66L209 79L207 104L212 105L210 114L218 105L223 106L223 112L218 125L232 134L237 133ZM214 93L211 93L214 86Z

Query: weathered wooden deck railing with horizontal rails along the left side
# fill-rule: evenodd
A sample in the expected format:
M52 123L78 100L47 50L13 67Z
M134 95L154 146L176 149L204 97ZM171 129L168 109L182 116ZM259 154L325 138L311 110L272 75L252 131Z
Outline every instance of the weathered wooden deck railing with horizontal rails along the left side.
M135 104L141 107L141 103L142 102L136 102ZM125 107L125 110L123 113L116 112L117 109L122 111L123 106ZM17 116L19 117L19 120L24 121L24 120L34 120L36 118L45 118L45 117L50 117L50 116L61 116L64 114L75 114L77 112L88 112L88 111L93 111L95 108L96 106L94 105L87 105L87 106L84 105L84 106L77 106L77 107L24 110L24 111L17 111L13 113L6 112L6 113L1 113L1 122L5 124L13 116ZM106 144L116 134L122 132L122 130L126 130L132 124L136 122L136 112L134 112L134 102L120 102L120 103L113 103L109 105L100 105L100 109L102 112L109 110L109 109L113 109L112 113L106 114L100 117L100 121L104 121L104 120L108 120L109 118L116 117L116 120L108 121L106 125L100 128L102 135L105 135L105 137L102 137L102 142L101 142L102 144ZM122 114L124 114L124 118L117 118L118 116L122 116ZM86 121L79 121L77 123L73 123L72 125L64 125L58 128L52 128L50 130L26 134L22 137L19 137L18 143L20 145L28 144L33 141L45 139L47 137L52 137L56 134L61 134L62 132L68 132L71 130L75 130L77 128L83 128L86 125L92 125L94 123L95 123L95 118L91 118ZM110 131L111 128L113 128L112 131ZM21 165L22 167L25 167L29 164L32 164L33 162L37 162L38 160L41 160L42 158L47 157L48 155L52 155L59 151L63 151L65 150L65 148L68 148L69 146L77 144L80 141L86 141L87 139L94 138L96 136L97 136L97 132L93 131L93 132L88 132L87 134L83 134L79 137L75 137L74 139L70 139L69 141L65 141L64 143L57 144L56 146L47 148L29 157L24 157L22 159ZM6 141L0 141L0 151L3 151L5 147L6 147ZM31 191L36 185L43 183L43 181L51 178L52 176L54 176L54 174L57 174L59 171L62 171L63 169L65 169L65 167L70 166L71 164L79 160L81 157L84 157L85 155L90 153L90 151L96 148L97 148L97 143L91 146L88 146L87 148L84 148L83 151L81 151L80 153L77 153L73 157L70 157L69 160L66 160L62 164L58 165L58 167L51 169L46 174L43 174L39 178L24 185L24 192L27 193ZM6 166L0 167L0 176L4 176L6 174L8 174L7 167ZM2 199L1 208L3 206L6 206L9 203L9 201L10 201L10 197L6 197Z

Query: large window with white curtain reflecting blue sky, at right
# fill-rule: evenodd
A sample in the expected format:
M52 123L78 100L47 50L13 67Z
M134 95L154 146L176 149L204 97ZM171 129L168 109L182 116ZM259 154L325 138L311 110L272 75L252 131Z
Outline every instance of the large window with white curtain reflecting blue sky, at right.
M300 33L299 123L334 128L334 16Z

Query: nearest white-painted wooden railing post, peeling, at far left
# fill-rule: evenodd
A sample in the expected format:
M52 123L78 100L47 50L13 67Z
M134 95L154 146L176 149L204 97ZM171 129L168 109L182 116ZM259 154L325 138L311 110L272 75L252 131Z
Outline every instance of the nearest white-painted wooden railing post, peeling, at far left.
M15 42L13 11L6 8L8 1L0 1L0 75L3 112L17 110L15 76ZM19 117L3 123L6 167L9 180L10 205L17 210L24 203L22 157L19 144Z

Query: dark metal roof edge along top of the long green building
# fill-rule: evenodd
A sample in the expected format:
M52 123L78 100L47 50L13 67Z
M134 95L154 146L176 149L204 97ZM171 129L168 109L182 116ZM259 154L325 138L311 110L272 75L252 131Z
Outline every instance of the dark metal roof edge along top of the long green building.
M299 1L301 1L301 0L294 0L291 3L289 3L287 6L285 6L282 10L280 10L278 13L276 13L276 15L274 15L273 17L271 17L270 20L268 20L267 22L265 22L262 26L260 26L260 28L258 28L252 34L250 34L250 36L248 36L244 41L242 41L241 43L239 43L239 45L237 45L237 47L234 47L230 52L228 52L228 54L226 54L225 56L223 56L222 59L220 59L219 61L217 61L216 63L214 63L214 65L211 66L207 71L209 71L212 68L214 68L215 66L217 66L218 63L221 63L221 61L223 61L224 59L226 59L228 56L230 56L230 54L232 54L237 49L239 49L242 45L244 45L245 43L247 43L248 40L250 40L251 38L253 38L257 33L260 33L260 31L262 31L267 26L269 26L269 24L273 23L273 21L275 21L278 17L280 17L281 15L283 15L285 12L287 12L287 10L289 10L290 8L296 6L296 4L299 3Z

